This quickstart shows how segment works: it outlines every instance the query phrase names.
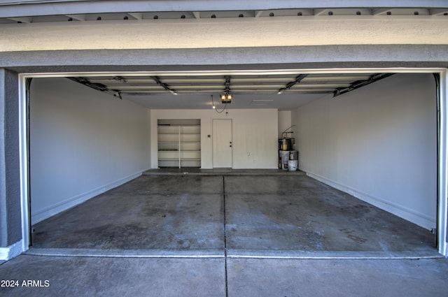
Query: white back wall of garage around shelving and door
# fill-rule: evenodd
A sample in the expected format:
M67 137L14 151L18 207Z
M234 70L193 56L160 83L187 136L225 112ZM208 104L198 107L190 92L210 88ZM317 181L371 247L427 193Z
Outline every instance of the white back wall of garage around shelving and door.
M212 119L232 119L233 168L277 168L276 109L151 110L151 160L158 168L158 119L201 119L201 168L213 168ZM210 135L210 138L208 137Z

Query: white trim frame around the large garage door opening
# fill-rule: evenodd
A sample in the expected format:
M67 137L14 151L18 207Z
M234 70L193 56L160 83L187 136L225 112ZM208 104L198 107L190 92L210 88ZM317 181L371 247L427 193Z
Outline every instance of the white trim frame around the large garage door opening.
M437 189L437 242L438 252L444 256L448 256L447 243L447 210L448 210L448 74L447 68L323 68L323 69L278 69L269 71L197 71L200 75L220 75L220 73L235 74L269 74L269 73L438 73L440 75L440 99L439 99L439 115L440 135L439 150L437 152L438 164L438 189ZM160 75L167 73L182 73L183 71L159 71L148 72L145 75ZM191 71L187 71L191 73ZM21 245L21 251L18 247L14 249L14 254L29 249L30 242L30 216L29 216L29 141L28 135L28 112L27 112L27 78L50 78L50 77L66 77L66 76L83 76L83 75L142 75L141 72L120 71L120 72L73 72L73 73L19 73L19 145L20 145L20 199L22 211L22 240L15 245ZM437 128L437 126L435 127ZM14 246L15 246L14 245Z

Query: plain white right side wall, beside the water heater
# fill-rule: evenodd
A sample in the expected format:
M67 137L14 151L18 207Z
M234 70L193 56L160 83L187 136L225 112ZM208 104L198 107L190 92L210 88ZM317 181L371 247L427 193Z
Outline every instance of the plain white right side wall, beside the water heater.
M395 74L293 111L300 170L427 229L436 227L435 83Z

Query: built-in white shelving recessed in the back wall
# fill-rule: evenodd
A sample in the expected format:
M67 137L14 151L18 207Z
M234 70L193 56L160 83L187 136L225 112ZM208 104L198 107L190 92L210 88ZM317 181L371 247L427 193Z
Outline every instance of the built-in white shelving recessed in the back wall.
M158 120L159 167L201 166L201 120Z

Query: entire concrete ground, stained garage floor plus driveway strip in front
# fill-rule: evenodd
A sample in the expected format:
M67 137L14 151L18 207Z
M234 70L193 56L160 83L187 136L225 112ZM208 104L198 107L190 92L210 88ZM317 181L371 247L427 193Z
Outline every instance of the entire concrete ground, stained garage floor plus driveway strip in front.
M447 294L429 231L300 173L239 173L144 175L36 224L0 278L44 287L0 295Z

